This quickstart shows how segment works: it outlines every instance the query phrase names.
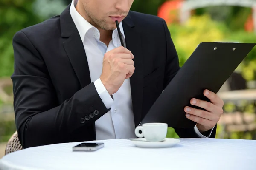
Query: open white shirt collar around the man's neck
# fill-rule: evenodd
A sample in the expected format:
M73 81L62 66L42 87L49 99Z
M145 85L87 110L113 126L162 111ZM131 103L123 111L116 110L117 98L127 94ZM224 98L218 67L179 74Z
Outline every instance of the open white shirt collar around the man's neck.
M81 37L82 42L84 43L84 38L85 36L90 36L93 35L93 37L99 41L99 30L91 25L87 20L82 17L79 12L76 10L75 6L77 4L78 0L73 0L70 6L70 15L76 25L76 28L79 32L79 35ZM123 40L125 40L125 33L122 27L122 22L119 24L120 31L122 34ZM93 33L93 34L87 34L87 32ZM113 30L112 33L112 40L114 45L117 47L117 44L120 43L119 36L118 36L118 31L117 29Z

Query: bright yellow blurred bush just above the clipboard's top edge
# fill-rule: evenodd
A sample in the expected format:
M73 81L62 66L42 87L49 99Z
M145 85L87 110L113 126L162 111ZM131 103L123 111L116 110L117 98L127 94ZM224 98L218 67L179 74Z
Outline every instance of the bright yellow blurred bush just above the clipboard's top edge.
M182 66L200 42L216 42L224 38L223 23L211 20L209 15L193 16L183 26L169 25L172 40Z

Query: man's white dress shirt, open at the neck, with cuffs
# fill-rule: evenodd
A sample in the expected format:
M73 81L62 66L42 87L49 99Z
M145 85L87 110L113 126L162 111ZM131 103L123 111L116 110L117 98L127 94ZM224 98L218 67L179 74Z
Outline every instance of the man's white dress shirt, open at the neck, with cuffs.
M82 17L76 10L75 6L77 1L78 0L72 1L70 14L84 45L91 82L94 82L96 91L106 108L111 108L108 113L95 122L96 140L136 138L137 136L135 136L134 133L135 125L131 102L130 79L125 79L119 90L113 94L114 100L108 94L108 91L99 79L102 74L104 54L121 46L118 31L117 29L113 30L112 40L109 42L108 46L105 45L105 43L99 40L99 30L85 20L84 17ZM122 28L122 22L119 26L125 43L125 34ZM198 136L206 138L206 136L203 136L199 132L196 126L194 129Z

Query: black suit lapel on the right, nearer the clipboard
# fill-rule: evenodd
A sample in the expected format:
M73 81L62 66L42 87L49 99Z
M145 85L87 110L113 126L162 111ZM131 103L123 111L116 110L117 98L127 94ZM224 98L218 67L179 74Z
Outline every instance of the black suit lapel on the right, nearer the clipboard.
M143 53L141 48L141 36L136 30L130 15L122 21L125 32L126 48L134 54L134 74L130 78L131 97L134 112L135 126L140 124L143 102Z

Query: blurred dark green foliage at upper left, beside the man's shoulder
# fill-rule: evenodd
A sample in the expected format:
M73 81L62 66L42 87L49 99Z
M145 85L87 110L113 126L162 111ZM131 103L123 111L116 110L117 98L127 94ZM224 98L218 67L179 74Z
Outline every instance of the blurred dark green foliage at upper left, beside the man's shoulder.
M9 77L13 72L14 34L41 21L32 5L33 0L0 0L0 77Z

